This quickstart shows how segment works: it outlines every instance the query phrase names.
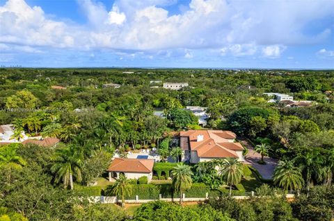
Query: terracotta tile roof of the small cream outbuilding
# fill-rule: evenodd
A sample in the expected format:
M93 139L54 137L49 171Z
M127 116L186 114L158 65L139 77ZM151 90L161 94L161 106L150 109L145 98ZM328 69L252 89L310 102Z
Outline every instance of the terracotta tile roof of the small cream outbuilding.
M107 171L110 172L133 172L151 173L153 170L153 159L121 159L116 158L111 162Z

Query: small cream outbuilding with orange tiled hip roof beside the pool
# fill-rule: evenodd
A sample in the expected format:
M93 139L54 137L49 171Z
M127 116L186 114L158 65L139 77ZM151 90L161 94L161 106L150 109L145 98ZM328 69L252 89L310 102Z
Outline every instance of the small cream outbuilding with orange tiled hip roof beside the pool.
M148 182L152 179L153 159L122 159L115 158L108 168L109 181L118 178L123 173L128 179L138 179L148 177Z

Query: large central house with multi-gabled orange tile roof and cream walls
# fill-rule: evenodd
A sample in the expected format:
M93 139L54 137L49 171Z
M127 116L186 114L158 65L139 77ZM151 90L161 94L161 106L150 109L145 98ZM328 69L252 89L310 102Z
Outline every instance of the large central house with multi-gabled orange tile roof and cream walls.
M199 163L212 159L233 157L244 161L244 147L236 143L237 136L224 130L189 130L180 132L180 145L184 150L182 161Z

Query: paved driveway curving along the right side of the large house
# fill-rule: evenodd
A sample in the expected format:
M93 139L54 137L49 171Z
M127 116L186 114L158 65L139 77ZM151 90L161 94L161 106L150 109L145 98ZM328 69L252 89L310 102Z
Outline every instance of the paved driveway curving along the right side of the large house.
M261 155L255 152L253 145L251 145L246 139L239 139L239 141L246 146L246 148L248 148L245 163L257 169L264 179L271 179L273 177L273 170L276 168L278 160L271 157L264 157L263 160L266 164L259 164L257 161L261 160Z

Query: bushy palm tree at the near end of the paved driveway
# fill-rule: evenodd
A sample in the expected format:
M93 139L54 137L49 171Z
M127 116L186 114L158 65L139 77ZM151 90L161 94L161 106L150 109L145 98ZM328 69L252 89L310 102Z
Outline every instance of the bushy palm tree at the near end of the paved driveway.
M273 172L273 182L285 190L299 191L304 183L301 168L294 166L293 161L280 161Z

